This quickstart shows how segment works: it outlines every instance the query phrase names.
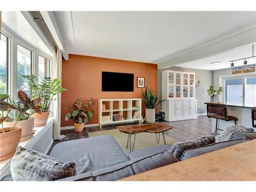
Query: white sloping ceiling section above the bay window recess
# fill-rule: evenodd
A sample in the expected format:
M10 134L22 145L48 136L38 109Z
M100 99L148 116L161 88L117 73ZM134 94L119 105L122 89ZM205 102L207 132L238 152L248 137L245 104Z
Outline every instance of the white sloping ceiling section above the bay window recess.
M38 34L20 11L2 11L2 22L13 33L29 42L34 48L53 56Z

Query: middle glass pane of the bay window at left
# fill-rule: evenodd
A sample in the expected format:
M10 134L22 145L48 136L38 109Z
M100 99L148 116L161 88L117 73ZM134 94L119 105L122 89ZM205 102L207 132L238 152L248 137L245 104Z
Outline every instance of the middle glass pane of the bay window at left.
M31 74L32 51L17 44L17 91L29 93L23 75Z

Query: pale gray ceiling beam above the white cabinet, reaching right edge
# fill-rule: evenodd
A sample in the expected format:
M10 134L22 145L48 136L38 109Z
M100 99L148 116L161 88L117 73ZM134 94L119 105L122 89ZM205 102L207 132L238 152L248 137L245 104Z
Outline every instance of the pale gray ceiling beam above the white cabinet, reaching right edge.
M229 49L234 49L243 45L256 42L256 26L234 33L227 37L221 38L210 44L200 46L192 50L185 51L173 56L169 56L158 62L158 69L165 69L177 64L182 64L201 58L216 55Z

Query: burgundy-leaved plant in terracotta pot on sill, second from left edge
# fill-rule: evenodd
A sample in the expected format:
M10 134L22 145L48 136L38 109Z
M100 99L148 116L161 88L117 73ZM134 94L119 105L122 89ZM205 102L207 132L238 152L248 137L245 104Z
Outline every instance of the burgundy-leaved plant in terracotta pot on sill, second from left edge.
M22 136L20 141L27 140L34 135L34 117L31 117L34 113L41 113L40 106L38 103L40 102L40 98L31 99L24 92L18 91L18 99L16 102L11 100L12 105L15 106L16 110L12 110L9 112L12 120L7 120L3 123L4 127L11 127L17 125L22 127Z

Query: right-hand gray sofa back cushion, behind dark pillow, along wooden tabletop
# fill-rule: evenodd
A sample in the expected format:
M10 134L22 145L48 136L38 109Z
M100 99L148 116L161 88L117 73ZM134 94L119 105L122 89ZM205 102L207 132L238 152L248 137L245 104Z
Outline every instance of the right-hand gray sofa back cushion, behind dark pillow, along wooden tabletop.
M242 143L242 142L245 142L245 141L246 140L243 140L243 139L232 140L232 141L222 141L222 142L219 142L219 143L212 143L212 144L209 144L209 145L206 145L206 146L191 148L189 150L186 150L182 154L180 160L183 161L185 159L189 159L189 158L196 157L196 156L199 156L199 155L203 155L203 154L206 154L206 153L214 152L214 151L220 150L221 148L225 148L225 147L228 147L228 146L239 144L239 143Z

